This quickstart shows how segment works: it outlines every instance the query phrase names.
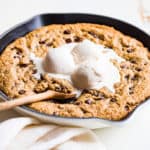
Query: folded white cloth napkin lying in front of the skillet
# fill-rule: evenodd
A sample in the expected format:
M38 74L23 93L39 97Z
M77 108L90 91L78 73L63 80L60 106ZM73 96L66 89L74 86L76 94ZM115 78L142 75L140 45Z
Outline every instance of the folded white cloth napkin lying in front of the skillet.
M84 128L43 124L29 117L0 123L0 150L106 150L96 134Z

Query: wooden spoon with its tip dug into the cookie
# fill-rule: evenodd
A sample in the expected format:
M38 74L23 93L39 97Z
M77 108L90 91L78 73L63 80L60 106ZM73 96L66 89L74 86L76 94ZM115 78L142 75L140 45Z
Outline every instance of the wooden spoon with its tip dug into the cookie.
M75 96L76 96L76 94L74 94L74 93L64 94L64 93L48 90L43 93L33 94L33 95L24 96L24 97L17 98L17 99L8 100L6 102L1 102L0 103L0 111L11 109L16 106L20 106L20 105L24 105L24 104L29 104L29 103L33 103L33 102L46 100L46 99L52 99L52 98L54 98L54 99L69 99L69 98L73 98ZM1 95L1 97L4 98L4 96L2 96L2 95ZM6 98L4 98L4 99L6 99Z

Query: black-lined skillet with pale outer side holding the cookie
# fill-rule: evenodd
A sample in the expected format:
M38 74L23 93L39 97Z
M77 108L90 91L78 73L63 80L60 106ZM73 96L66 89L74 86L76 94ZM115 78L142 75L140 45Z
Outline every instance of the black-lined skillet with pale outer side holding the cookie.
M81 13L66 13L66 14L40 14L32 17L31 19L11 28L0 36L0 53L3 52L4 48L15 39L24 36L28 32L40 28L45 25L50 24L67 24L67 23L96 23L96 24L104 24L108 26L113 26L115 29L121 31L126 35L130 35L139 41L141 41L145 47L150 49L150 36L138 29L137 27L125 23L123 21L106 17L100 15L93 14L81 14ZM4 100L9 100L9 98L4 95L4 93L0 92L0 96ZM147 101L143 102L146 103ZM144 105L144 104L142 104ZM141 105L140 105L141 107ZM136 108L137 112L139 108ZM37 112L28 108L26 106L20 106L16 108L22 114L27 114L34 116L40 120L46 122L53 122L57 124L63 125L73 125L73 126L82 126L87 128L101 128L104 126L112 126L112 125L120 125L122 123L127 122L131 116L133 116L133 112L130 113L126 118L120 121L109 121L100 118L67 118L67 117L58 117L54 115L47 115L44 113Z

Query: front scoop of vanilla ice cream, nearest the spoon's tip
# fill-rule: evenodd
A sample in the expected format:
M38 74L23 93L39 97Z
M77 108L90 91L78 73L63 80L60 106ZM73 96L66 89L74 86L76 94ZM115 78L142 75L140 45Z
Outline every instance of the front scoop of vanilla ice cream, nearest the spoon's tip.
M76 88L85 89L93 87L101 81L101 73L97 69L98 63L89 59L80 64L72 73L71 79Z

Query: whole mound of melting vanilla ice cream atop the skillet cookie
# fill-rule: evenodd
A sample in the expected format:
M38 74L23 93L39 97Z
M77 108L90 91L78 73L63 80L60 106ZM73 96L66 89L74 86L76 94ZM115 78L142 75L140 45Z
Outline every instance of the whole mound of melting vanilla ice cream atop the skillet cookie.
M30 58L38 68L37 78L47 72L53 77L67 78L81 90L105 86L113 92L114 84L120 81L120 73L112 60L124 61L114 50L89 40L51 48L44 59L35 55Z

